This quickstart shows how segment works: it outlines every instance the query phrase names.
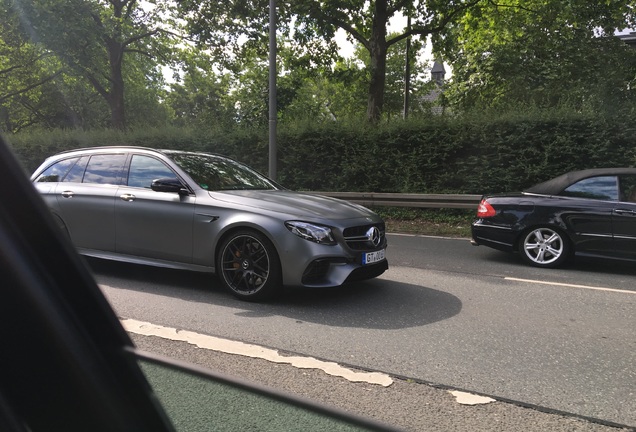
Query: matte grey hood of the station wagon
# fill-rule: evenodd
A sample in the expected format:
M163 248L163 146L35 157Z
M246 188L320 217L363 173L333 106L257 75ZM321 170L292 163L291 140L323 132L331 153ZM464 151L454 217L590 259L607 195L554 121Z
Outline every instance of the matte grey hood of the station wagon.
M208 192L212 198L228 203L254 207L259 210L286 213L295 217L329 219L354 219L379 217L371 210L357 204L323 195L313 195L287 190L236 190Z

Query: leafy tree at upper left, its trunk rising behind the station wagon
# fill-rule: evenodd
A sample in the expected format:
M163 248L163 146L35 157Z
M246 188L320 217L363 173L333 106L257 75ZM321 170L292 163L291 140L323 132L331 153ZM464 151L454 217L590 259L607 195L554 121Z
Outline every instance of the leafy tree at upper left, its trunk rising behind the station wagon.
M107 102L112 127L125 128L124 64L133 53L153 62L167 54L169 33L160 26L164 3L142 8L136 0L9 1L33 42L84 77Z

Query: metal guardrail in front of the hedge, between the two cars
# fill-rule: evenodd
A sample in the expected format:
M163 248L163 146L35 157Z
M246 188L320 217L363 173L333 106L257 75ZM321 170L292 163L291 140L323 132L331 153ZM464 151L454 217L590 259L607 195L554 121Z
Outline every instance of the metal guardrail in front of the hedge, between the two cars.
M417 207L474 209L481 195L469 194L396 194L375 192L312 192L340 198L366 207Z

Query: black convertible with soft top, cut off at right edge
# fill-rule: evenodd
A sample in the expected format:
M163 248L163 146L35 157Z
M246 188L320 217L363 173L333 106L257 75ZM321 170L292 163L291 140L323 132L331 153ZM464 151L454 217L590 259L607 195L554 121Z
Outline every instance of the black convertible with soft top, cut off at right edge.
M636 261L636 168L573 171L523 192L484 196L472 237L537 267L573 255Z

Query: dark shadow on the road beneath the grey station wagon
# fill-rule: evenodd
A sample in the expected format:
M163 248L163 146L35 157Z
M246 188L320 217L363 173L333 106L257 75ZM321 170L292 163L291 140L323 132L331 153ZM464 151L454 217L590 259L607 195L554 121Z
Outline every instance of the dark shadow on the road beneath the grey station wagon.
M99 284L178 298L182 301L240 309L243 317L286 316L297 323L336 327L400 329L418 327L457 315L456 296L423 286L373 279L338 288L288 288L266 303L235 299L207 273L87 259Z

